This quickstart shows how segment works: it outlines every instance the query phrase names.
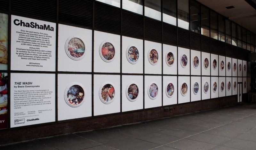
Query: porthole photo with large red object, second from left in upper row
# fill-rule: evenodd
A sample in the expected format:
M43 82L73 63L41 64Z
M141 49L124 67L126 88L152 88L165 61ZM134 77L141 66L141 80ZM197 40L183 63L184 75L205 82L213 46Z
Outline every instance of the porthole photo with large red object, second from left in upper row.
M104 41L100 45L100 57L106 61L111 62L115 57L115 47L112 43Z

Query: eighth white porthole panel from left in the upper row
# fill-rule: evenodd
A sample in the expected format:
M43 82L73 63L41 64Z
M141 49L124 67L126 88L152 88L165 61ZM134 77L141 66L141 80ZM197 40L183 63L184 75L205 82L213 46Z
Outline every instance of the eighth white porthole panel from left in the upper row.
M211 75L211 59L210 53L202 52L202 75ZM210 84L210 83L209 83Z

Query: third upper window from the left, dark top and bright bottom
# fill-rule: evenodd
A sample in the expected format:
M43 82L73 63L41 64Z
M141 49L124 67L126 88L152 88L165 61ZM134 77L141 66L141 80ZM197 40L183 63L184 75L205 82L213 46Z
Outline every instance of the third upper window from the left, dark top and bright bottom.
M161 1L145 0L145 16L161 21Z

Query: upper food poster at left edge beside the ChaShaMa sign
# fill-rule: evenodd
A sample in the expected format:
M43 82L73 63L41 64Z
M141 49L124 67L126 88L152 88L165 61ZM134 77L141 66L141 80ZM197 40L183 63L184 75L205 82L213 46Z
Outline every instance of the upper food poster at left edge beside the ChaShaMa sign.
M7 70L8 63L8 14L0 13L0 70ZM1 129L1 127L0 127Z

